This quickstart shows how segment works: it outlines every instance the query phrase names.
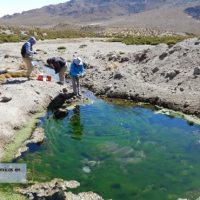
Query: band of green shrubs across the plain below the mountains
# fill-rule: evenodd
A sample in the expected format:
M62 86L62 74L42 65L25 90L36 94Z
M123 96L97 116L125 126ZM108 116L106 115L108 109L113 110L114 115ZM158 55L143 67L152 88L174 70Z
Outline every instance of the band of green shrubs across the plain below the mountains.
M169 36L134 36L134 35L123 35L123 34L106 34L103 32L95 32L91 29L42 29L42 28L25 28L25 27L12 27L12 26L0 26L1 30L9 30L10 34L0 33L0 43L2 42L19 42L27 40L30 35L35 36L37 40L46 39L57 39L57 38L85 38L85 37L105 37L110 38L110 42L122 42L127 45L157 45L160 43L166 43L168 45L174 45L184 39L195 37L195 35L186 33L182 35L169 35ZM111 38L112 37L112 38ZM198 37L198 36L196 36ZM84 44L79 48L86 47Z

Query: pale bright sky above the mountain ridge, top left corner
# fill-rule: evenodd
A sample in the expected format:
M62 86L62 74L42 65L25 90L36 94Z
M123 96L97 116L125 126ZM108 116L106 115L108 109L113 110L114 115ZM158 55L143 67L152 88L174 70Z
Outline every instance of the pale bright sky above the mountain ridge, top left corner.
M64 3L66 1L68 0L1 0L0 17L7 14L40 8L49 4Z

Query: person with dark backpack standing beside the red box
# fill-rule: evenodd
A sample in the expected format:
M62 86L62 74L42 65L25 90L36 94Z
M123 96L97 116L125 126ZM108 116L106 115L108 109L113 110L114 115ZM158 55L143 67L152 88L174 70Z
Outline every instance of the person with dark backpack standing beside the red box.
M33 45L36 43L36 39L34 37L30 37L22 46L21 54L22 59L27 67L26 77L30 80L31 72L33 71L33 54L37 54L33 51Z

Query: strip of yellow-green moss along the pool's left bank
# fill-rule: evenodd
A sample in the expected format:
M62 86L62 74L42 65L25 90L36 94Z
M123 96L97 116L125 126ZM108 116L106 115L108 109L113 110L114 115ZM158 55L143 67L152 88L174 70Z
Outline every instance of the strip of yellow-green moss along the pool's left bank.
M14 158L15 154L17 153L17 150L20 148L22 143L24 141L26 141L28 138L30 138L31 133L32 133L36 123L38 122L38 118L43 115L44 115L44 113L35 114L27 122L27 124L25 126L20 128L16 132L13 140L6 146L5 152L4 152L4 155L3 155L3 158L1 159L1 161L10 162Z

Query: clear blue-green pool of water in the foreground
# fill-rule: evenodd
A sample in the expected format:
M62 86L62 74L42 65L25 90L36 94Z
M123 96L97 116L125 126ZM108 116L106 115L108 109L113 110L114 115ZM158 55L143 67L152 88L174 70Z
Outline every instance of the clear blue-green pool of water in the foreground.
M165 200L200 196L200 127L131 103L77 106L64 119L41 118L46 133L18 162L29 180L75 179L74 192L105 199Z

